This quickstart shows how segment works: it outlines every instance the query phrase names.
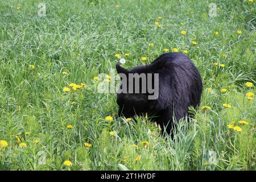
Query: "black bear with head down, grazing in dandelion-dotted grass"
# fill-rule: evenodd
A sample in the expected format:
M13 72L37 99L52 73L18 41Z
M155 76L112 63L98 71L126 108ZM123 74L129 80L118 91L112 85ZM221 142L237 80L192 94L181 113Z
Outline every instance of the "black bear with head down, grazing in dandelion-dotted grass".
M200 104L201 76L183 53L165 53L151 64L134 67L130 71L118 64L116 69L119 76L122 75L117 93L119 116L130 118L135 114L148 113L156 117L155 121L162 130L165 128L167 133L171 133L173 119L179 121L187 114L189 106L196 108ZM139 78L137 84L134 84L135 78ZM153 83L148 84L150 80ZM152 90L158 93L152 93ZM157 97L150 98L152 94Z

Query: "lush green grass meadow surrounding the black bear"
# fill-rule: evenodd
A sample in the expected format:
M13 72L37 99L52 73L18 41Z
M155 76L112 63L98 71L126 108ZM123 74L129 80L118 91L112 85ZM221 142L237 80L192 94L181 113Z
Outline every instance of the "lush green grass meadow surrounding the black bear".
M0 140L9 144L0 147L1 170L122 169L118 164L134 170L255 169L255 96L245 96L256 94L255 1L215 1L214 18L208 15L212 1L46 1L46 17L38 16L40 2L0 2ZM150 63L164 48L188 50L203 79L201 106L211 107L193 110L189 124L180 121L173 140L146 116L118 118L116 95L97 93L100 81L93 80L115 67L116 53L129 53L123 67L131 68ZM85 88L63 92L81 82ZM105 121L108 115L113 122ZM228 129L229 123L242 131ZM27 146L20 147L16 136Z

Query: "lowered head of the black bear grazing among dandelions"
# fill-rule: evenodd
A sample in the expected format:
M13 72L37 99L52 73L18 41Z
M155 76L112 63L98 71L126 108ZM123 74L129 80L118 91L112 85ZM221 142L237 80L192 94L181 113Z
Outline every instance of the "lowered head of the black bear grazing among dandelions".
M129 71L117 64L116 69L121 77L117 92L118 116L130 118L135 114L139 115L152 110L154 100L148 96L151 96L152 90L156 88L154 74L148 75L145 66L134 67Z

